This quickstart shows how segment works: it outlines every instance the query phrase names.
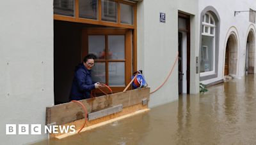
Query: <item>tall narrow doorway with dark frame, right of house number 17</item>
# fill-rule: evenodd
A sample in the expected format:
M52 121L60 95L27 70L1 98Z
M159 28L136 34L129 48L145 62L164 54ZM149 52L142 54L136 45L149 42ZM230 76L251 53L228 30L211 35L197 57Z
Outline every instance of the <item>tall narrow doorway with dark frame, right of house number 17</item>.
M189 93L190 84L190 16L179 13L179 94Z

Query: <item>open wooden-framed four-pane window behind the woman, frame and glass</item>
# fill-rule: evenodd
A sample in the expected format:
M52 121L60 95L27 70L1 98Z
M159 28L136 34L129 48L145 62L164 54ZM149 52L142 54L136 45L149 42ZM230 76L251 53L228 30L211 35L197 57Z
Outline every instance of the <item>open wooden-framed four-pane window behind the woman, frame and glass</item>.
M85 56L88 53L93 53L97 56L92 69L93 81L106 83L113 92L124 90L132 75L131 31L84 29L82 39L82 54Z

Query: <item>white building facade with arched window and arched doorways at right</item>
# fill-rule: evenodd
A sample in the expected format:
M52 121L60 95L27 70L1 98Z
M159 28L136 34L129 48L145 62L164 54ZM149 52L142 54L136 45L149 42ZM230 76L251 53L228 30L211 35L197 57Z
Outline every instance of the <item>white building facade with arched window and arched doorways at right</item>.
M253 1L199 1L200 82L255 73Z

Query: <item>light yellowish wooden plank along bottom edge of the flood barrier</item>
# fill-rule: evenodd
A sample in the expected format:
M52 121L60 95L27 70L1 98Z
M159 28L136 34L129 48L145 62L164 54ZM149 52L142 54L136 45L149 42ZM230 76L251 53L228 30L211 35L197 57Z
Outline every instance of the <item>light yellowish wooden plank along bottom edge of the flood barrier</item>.
M99 123L106 122L108 120L113 120L115 118L120 118L122 116L125 116L126 114L135 113L136 111L141 111L143 109L148 109L148 107L147 106L142 106L141 104L137 104L135 106L130 106L130 107L125 107L119 113L110 114L108 116L104 116L104 117L98 118L96 120L86 121L86 126L84 128L91 127L93 125L98 125ZM83 123L84 123L84 119L81 119L81 120L76 120L76 121L73 121L73 122L70 122L70 123L65 123L63 126L75 125L76 126L76 130L79 130L83 126ZM83 129L82 131L85 131L85 130ZM60 133L59 134L50 134L50 137L51 138L52 137L58 137L60 135L65 135L65 134L60 134Z

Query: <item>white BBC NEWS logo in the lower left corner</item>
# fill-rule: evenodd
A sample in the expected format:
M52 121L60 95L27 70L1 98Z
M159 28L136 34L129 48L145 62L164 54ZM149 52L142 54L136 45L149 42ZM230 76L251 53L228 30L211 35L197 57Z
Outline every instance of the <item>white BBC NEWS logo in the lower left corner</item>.
M6 124L5 127L6 135L29 135L29 130L32 135L42 134L42 131L44 131L44 134L74 134L76 132L75 125L43 125L44 128L42 128L40 124Z

